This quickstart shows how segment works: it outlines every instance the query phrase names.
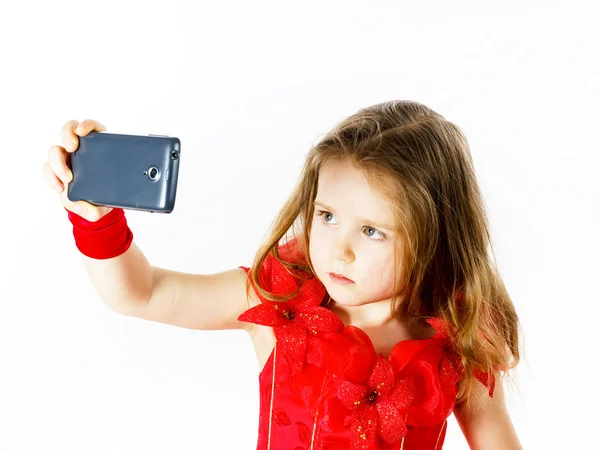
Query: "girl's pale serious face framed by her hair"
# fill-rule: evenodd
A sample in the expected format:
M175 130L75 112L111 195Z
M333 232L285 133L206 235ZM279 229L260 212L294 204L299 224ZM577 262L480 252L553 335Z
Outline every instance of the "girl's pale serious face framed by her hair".
M398 275L394 230L388 201L361 169L347 161L323 164L309 252L316 275L333 300L358 306L392 297Z

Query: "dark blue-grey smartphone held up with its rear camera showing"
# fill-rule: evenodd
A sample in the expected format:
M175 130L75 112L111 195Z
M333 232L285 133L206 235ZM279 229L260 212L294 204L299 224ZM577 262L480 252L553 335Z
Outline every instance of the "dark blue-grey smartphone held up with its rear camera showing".
M67 197L97 206L171 213L181 142L176 137L93 131L71 154Z

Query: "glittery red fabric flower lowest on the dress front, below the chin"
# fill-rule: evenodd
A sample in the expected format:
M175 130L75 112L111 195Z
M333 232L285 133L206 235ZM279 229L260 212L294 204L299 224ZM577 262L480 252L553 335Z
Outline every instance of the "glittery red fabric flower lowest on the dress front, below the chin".
M336 377L339 399L352 411L351 449L370 449L380 435L394 443L407 434L405 415L416 395L412 379L396 380L392 365L379 356L366 385Z

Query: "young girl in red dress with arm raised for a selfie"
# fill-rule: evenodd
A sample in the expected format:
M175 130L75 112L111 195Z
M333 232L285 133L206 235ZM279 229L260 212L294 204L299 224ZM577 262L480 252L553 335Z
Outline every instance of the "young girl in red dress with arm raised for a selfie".
M308 154L251 268L149 265L121 209L73 204L68 122L44 173L115 311L248 331L262 368L258 449L437 450L454 412L472 449L521 448L503 377L518 317L494 264L467 141L422 104L342 121Z

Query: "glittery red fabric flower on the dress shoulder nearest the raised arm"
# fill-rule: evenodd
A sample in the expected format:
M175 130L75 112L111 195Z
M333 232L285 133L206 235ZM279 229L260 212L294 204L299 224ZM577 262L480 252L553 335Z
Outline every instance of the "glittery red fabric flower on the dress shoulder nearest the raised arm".
M277 287L278 295L291 294L300 282L271 255L261 270L263 287ZM242 313L238 320L273 327L278 349L298 371L304 366L309 332L340 332L344 328L335 313L320 306L325 292L323 284L313 277L302 282L298 295L291 300L276 302L261 297L262 303Z

